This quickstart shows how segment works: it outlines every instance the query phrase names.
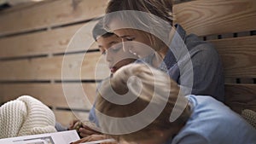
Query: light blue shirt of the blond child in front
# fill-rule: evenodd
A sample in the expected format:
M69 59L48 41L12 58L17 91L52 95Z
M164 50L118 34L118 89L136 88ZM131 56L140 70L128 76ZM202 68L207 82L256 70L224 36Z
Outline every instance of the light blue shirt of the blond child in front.
M172 144L256 144L256 130L229 107L211 96L186 97L193 112Z

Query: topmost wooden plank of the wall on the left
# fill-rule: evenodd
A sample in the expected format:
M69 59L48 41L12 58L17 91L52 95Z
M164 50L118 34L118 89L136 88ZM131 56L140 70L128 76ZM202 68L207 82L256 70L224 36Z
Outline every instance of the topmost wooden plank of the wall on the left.
M106 0L66 0L65 2L58 0L37 4L30 9L1 14L0 35L90 20L104 14L107 2Z

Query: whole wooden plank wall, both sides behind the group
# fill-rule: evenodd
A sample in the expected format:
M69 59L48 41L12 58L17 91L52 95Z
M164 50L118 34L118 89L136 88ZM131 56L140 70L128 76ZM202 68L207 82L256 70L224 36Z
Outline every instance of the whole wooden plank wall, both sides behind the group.
M226 104L236 112L256 111L256 1L187 1L177 0L174 5L176 22L215 44L224 63ZM84 93L93 101L100 56L95 44L90 46L90 23L104 13L106 3L54 0L1 12L0 102L32 95L51 107L61 124L67 125L74 114L87 118L90 104ZM67 49L84 24L89 26L80 31L79 42ZM66 50L67 63L62 65ZM63 66L72 73L66 78L61 75ZM69 88L66 97L62 84Z

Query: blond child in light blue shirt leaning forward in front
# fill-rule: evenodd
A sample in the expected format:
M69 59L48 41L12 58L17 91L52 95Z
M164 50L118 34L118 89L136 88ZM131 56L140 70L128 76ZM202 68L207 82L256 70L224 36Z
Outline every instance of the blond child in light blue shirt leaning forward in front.
M132 90L137 89L137 85L142 85L140 93ZM176 82L166 73L149 66L131 64L122 67L112 78L102 83L100 91L96 101L99 124L103 132L120 144L123 141L131 144L253 144L256 141L256 130L253 126L247 124L229 107L211 96L180 94ZM127 105L109 102L116 99L113 92L125 98L129 91L130 96L137 97L135 101ZM163 95L166 92L168 95ZM181 101L177 101L178 96ZM151 111L143 116L139 115L149 105L152 107ZM183 109L183 106L185 108L175 121L171 121L170 116L175 105L179 109ZM163 108L150 121L155 107ZM134 116L135 120L131 120ZM120 121L116 118L126 119ZM137 129L140 124L145 124L141 130L129 133L124 131Z

